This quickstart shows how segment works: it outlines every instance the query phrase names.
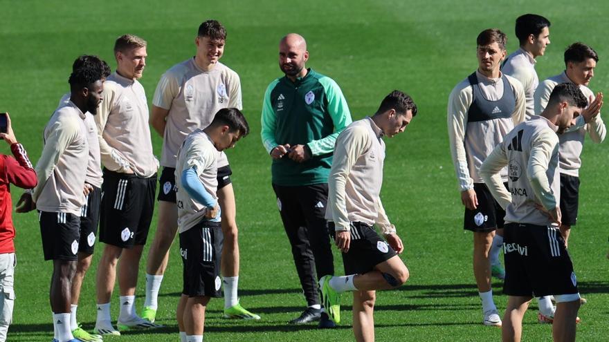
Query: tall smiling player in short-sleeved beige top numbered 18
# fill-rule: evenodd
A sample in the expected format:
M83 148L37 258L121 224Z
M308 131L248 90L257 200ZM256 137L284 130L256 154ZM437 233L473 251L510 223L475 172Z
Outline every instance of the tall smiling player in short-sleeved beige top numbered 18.
M176 153L186 135L205 129L221 108L242 109L241 83L235 71L222 64L226 29L215 20L201 23L194 44L194 57L172 66L156 86L150 124L163 137L161 178L158 191L158 225L146 266L146 300L143 317L156 318L158 291L167 267L169 249L176 236L177 215L174 171ZM239 245L235 220L235 193L230 182L230 167L224 153L218 162L218 197L222 208L221 274L224 283L224 316L236 319L260 319L245 310L237 298L239 280ZM182 305L183 303L181 303ZM181 310L178 310L181 312ZM183 332L181 316L178 325Z

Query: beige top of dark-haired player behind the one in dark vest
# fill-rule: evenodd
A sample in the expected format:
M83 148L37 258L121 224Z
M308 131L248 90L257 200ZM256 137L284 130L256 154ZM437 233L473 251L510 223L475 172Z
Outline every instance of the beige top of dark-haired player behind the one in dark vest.
M518 79L525 90L527 98L527 113L525 120L529 120L531 115L538 115L541 112L535 112L533 95L539 85L539 77L535 71L536 61L531 53L523 48L519 48L507 57L505 63L501 67L502 73Z

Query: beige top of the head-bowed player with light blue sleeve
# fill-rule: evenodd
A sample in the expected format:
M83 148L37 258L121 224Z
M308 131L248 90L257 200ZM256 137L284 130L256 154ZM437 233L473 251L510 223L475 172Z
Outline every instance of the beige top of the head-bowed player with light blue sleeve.
M182 187L182 172L192 167L197 171L203 188L216 200L218 189L219 151L209 135L200 129L187 135L178 151L176 163L176 203L178 206L178 231L183 233L203 220L206 206L194 200Z

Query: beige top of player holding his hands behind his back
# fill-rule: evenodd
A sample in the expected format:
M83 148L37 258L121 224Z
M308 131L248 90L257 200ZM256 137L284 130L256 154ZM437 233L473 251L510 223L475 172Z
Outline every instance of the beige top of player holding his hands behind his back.
M80 216L89 162L84 113L73 103L55 110L44 129L44 147L36 164L36 209Z

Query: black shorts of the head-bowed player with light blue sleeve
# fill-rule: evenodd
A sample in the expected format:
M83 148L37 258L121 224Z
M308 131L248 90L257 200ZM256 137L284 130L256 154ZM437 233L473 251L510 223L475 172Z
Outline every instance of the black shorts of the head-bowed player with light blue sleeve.
M221 297L220 256L224 235L220 222L202 221L180 233L182 294Z

